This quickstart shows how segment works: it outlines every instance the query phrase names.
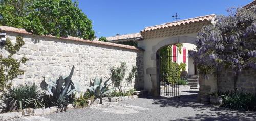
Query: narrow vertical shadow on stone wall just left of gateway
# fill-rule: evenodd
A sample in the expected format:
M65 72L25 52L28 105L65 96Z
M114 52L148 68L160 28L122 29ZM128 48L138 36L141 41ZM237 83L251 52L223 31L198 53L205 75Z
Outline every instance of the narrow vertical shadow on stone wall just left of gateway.
M136 66L138 75L135 77L134 88L138 91L144 90L144 69L143 69L143 52L137 53Z

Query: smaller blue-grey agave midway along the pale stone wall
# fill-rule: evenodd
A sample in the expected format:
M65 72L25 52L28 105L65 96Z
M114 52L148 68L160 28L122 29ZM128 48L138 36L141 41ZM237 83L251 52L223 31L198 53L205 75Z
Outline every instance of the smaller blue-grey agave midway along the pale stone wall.
M93 83L90 80L90 87L87 86L86 88L90 91L93 92L95 98L102 98L103 95L107 95L109 93L111 93L116 87L112 87L111 89L109 89L109 80L111 78L109 78L108 80L106 80L104 83L102 82L102 78L95 78ZM102 103L102 102L100 102Z

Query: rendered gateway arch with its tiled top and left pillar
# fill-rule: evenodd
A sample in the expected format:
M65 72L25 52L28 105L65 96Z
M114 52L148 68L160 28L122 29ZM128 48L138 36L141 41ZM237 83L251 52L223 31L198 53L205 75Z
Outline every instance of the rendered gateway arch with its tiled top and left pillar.
M207 15L165 23L146 27L140 32L142 39L138 41L138 47L144 49L144 90L153 96L160 95L158 50L176 43L195 44L198 32L204 25L210 24L214 17L215 15Z

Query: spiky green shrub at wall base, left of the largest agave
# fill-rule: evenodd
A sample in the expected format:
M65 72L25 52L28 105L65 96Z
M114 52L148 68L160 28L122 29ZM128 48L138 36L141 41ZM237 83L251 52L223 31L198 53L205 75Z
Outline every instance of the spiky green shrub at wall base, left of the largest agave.
M42 97L45 95L45 91L41 90L39 86L23 85L13 87L3 93L3 100L8 106L8 110L39 108L44 107L42 103Z

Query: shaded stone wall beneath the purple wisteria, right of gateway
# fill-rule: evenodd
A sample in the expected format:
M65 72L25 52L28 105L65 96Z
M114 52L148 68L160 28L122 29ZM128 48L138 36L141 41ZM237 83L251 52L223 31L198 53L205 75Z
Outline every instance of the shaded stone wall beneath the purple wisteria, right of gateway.
M218 76L209 76L206 78L200 75L200 94L211 94L215 91L225 92L234 89L234 72L232 70L222 70ZM244 69L238 76L238 90L256 94L256 71L253 69Z

